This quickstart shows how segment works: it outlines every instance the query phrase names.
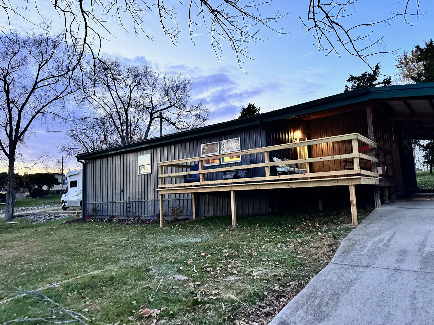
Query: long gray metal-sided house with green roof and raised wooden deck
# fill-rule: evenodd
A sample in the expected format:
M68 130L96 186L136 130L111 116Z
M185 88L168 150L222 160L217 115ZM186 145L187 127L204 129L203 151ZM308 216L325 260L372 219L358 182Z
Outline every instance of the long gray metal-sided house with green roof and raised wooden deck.
M362 88L84 153L83 213L162 224L179 207L181 218L232 214L235 225L237 214L275 213L285 191L298 188L321 208L322 195L346 188L356 224L356 192L380 207L380 193L387 202L417 190L411 140L433 138L433 99L434 84ZM276 166L306 171L278 174ZM242 179L222 179L241 170ZM186 183L191 176L197 182Z

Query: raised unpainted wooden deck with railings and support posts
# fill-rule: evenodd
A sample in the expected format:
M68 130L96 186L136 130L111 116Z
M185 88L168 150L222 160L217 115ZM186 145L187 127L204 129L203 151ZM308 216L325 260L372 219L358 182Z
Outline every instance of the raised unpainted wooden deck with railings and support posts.
M306 159L293 159L285 160L282 162L270 162L269 152L274 150L296 148L303 146L312 146L319 143L333 143L337 141L350 141L352 144L352 153L336 155L336 156L324 156ZM377 148L377 144L372 140L369 140L365 136L359 133L351 133L339 136L330 136L321 139L306 140L295 143L285 143L276 146L267 146L261 148L247 149L236 152L231 152L231 156L235 155L249 155L252 153L263 153L264 162L253 163L244 166L230 166L220 168L204 169L204 160L210 158L224 158L228 156L228 153L185 158L178 160L171 160L165 162L158 162L158 194L160 198L160 227L163 225L163 195L174 193L192 193L193 194L193 214L196 217L195 193L201 192L230 192L231 198L231 211L232 211L232 225L237 224L236 216L236 201L235 192L242 190L260 190L271 188L297 188L297 187L321 187L321 186L349 186L350 199L351 199L351 211L352 211L352 223L357 225L357 210L355 200L355 187L354 185L381 185L382 177L376 172L370 172L360 169L360 158L372 161L373 165L378 162L378 159L373 156L366 155L358 152L359 143L370 145L372 148ZM372 150L374 153L374 150ZM270 167L276 165L288 165L298 163L309 163L329 160L342 160L352 159L355 169L352 170L336 170L330 172L307 172L304 174L294 175L279 175L271 176ZM194 163L199 163L198 171L190 171L190 167ZM224 172L233 171L237 169L251 169L251 168L265 168L265 176L263 177L250 177L244 179L230 179L230 180L213 180L204 181L204 174L210 172ZM177 169L177 170L174 170ZM179 171L184 169L184 171ZM165 173L164 173L165 172ZM184 175L199 174L199 182L184 183L176 182L176 179L183 179ZM325 178L328 177L328 178ZM166 182L165 182L166 181ZM174 182L175 181L175 182Z

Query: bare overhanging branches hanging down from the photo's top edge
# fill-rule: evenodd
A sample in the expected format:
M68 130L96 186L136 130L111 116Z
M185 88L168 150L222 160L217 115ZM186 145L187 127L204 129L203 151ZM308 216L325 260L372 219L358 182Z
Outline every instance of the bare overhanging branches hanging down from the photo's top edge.
M369 20L354 23L355 5L358 0L309 0L306 1L305 14L299 18L306 26L306 33L312 33L316 39L316 47L327 52L336 52L343 46L344 51L355 55L368 63L367 59L375 54L390 52L376 50L382 45L382 37L370 39L377 25L388 25L395 17L403 17L404 23L410 24L410 16L421 14L421 0L395 0L389 5L393 12L382 20ZM18 18L32 21L33 17L41 17L42 0L26 1L26 7L14 5L12 0L1 0L1 8L9 20ZM224 44L235 52L238 61L249 58L250 42L262 41L262 28L274 31L279 35L286 33L280 25L281 14L264 16L264 8L270 7L271 0L56 0L51 1L59 16L64 20L66 37L80 40L85 48L89 48L94 57L99 56L101 33L114 33L109 30L109 21L115 20L119 26L127 30L125 22L132 21L134 32L141 33L148 39L154 36L145 29L145 22L157 20L163 32L177 43L179 33L187 29L193 40L195 36L208 33L211 46L217 57L220 57ZM380 3L380 2L378 2ZM187 11L187 19L181 21L178 14ZM375 12L375 7L372 8ZM30 18L32 17L32 18ZM51 17L50 17L51 18ZM34 22L33 22L34 23ZM339 55L339 54L338 54Z

